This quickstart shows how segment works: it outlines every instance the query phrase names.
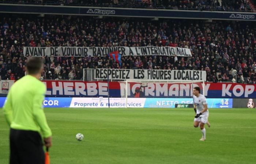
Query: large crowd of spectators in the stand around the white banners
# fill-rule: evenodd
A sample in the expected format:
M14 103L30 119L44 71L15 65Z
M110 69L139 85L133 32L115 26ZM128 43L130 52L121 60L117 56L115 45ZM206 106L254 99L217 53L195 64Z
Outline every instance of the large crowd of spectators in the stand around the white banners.
M84 68L206 70L207 81L254 83L256 26L252 22L161 19L94 19L83 16L8 15L0 21L0 76L25 75L24 46L172 46L190 48L192 57L45 56L45 79L82 79ZM235 80L233 79L233 81Z

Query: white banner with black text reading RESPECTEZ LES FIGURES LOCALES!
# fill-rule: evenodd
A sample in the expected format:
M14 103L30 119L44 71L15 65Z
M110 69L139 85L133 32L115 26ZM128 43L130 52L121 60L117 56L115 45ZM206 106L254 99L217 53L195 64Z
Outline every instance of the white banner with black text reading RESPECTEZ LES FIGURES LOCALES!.
M95 79L139 79L139 80L203 80L206 71L196 70L131 70L131 69L95 69Z

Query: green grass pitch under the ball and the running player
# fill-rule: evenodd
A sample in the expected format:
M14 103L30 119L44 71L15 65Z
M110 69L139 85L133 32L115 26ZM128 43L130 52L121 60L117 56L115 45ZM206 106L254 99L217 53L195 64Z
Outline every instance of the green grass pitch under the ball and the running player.
M45 109L51 164L255 164L256 109L210 109L207 140L193 109ZM0 110L0 164L9 157ZM84 140L76 141L77 133Z

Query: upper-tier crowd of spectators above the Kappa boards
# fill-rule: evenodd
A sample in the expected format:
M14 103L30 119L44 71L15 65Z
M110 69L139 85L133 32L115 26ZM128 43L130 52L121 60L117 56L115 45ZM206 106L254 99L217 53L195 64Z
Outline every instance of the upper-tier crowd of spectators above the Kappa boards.
M251 11L250 3L247 0L2 0L2 2L82 6L94 5L105 7Z

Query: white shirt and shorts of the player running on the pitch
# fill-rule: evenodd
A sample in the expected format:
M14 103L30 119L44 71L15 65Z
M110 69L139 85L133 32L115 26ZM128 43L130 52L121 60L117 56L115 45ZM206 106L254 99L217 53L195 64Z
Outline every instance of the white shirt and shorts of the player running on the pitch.
M207 104L206 98L202 94L199 94L199 97L196 97L195 95L193 95L193 98L194 98L194 103L196 104L196 114L199 114L204 109L204 105ZM202 113L201 116L199 116L198 118L195 118L194 121L202 122L206 124L208 121L208 116L209 116L209 112L208 110L206 110L204 113Z

